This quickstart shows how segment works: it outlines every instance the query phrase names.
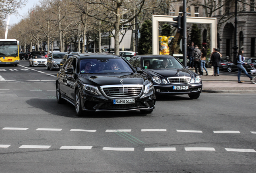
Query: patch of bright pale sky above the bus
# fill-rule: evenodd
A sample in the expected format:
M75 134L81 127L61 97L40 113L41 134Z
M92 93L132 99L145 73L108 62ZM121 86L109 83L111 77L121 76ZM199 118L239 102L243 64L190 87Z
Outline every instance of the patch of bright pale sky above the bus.
M22 19L22 16L24 16L25 14L27 14L28 12L28 9L32 8L34 5L36 5L37 3L39 2L39 0L27 0L27 4L18 10L18 15L15 16L15 15L11 15L10 16L10 22L9 22L9 26L12 25L12 24L16 24L18 23L19 21L21 21ZM6 18L6 21L7 21L7 18Z

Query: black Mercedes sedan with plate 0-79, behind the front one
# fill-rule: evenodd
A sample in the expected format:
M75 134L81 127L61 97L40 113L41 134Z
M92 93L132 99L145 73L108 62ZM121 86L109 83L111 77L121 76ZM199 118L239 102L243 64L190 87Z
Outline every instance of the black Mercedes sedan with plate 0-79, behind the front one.
M188 70L170 55L136 55L128 61L144 78L150 80L156 95L184 95L198 99L202 81L198 74Z

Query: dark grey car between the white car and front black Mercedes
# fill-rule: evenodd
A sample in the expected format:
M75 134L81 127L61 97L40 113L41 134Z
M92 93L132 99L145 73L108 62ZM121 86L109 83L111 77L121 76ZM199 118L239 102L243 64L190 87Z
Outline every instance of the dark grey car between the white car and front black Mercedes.
M65 52L51 52L47 58L47 70L59 70L60 61L65 55Z

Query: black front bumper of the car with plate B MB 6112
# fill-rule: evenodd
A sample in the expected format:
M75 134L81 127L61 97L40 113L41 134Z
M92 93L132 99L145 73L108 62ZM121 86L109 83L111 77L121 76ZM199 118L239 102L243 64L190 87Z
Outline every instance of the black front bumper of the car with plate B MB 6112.
M116 98L118 99L118 98ZM81 95L81 103L83 111L151 111L155 109L156 97L155 93L151 92L147 95L135 97L135 103L132 104L114 104L114 99L107 98L103 95L91 95L83 92Z

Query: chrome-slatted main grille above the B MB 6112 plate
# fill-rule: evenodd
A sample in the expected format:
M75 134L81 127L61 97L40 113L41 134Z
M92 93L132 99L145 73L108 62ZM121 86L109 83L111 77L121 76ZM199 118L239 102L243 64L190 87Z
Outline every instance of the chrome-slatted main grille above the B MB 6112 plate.
M142 91L142 85L108 85L102 86L102 91L111 98L138 97Z

